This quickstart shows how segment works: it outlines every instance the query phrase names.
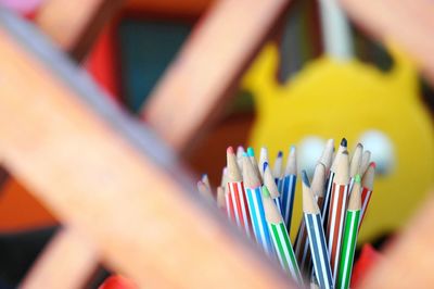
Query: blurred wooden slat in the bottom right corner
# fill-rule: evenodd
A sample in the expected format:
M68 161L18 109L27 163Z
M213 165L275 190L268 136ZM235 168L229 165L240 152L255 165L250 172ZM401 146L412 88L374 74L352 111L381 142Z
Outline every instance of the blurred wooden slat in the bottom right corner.
M398 212L396 212L398 214ZM434 288L434 196L408 224L360 288Z

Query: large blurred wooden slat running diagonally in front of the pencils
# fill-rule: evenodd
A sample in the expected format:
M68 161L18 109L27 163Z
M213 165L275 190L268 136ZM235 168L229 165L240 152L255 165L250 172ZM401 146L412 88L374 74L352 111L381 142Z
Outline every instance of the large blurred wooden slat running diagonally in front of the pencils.
M105 264L141 288L290 286L84 72L4 11L0 26L0 158Z

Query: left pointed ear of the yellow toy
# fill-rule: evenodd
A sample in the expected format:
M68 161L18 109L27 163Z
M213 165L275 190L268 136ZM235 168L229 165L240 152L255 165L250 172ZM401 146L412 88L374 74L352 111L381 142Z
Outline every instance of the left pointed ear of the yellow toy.
M256 108L265 109L270 102L265 98L276 91L276 73L278 68L279 52L276 45L266 45L242 79L242 88L252 92Z

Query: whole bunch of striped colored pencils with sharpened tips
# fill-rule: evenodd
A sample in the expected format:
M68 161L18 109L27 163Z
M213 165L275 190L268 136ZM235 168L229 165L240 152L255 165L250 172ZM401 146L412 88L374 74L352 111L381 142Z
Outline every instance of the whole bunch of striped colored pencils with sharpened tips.
M349 288L357 235L372 194L375 164L358 143L352 158L342 139L334 153L330 139L309 181L302 171L304 217L295 242L290 239L297 163L289 150L285 169L280 151L271 169L266 148L256 161L254 150L237 153L229 147L227 166L217 188L217 205L237 226L276 260L301 286ZM206 175L197 183L214 199Z

